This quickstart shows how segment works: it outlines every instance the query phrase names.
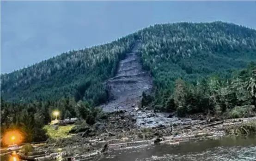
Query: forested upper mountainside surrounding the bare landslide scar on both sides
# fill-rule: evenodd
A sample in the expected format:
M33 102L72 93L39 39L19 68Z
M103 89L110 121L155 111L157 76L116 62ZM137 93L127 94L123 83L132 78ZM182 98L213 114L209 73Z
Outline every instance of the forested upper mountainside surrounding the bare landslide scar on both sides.
M141 40L143 67L150 70L160 98L182 78L196 82L213 72L228 76L256 61L256 30L232 23L157 24L109 44L70 51L28 68L1 75L1 96L8 101L47 101L74 97L104 103L102 82Z

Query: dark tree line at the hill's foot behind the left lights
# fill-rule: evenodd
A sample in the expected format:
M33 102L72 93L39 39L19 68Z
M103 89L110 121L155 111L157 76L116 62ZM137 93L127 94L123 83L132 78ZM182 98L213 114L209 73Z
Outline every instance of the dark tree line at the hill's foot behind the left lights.
M104 117L100 109L86 101L77 103L74 98L33 103L6 102L1 98L1 137L6 132L18 130L24 137L23 142L45 141L48 136L43 127L55 120L54 111L59 112L58 119L79 117L88 125Z

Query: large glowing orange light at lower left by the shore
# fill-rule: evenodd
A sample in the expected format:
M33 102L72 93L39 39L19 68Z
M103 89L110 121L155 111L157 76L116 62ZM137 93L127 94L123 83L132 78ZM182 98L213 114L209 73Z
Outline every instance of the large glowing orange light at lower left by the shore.
M8 131L3 136L3 143L6 145L19 144L23 141L22 133L18 130Z

